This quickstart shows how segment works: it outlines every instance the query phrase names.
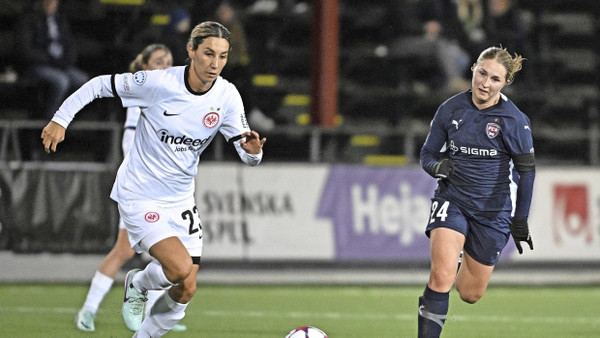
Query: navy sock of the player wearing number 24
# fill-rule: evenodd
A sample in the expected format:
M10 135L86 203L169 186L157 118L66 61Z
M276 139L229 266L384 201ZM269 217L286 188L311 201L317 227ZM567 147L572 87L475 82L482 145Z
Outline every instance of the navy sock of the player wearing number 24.
M436 292L425 287L419 297L419 338L437 338L442 333L442 326L448 314L450 292Z

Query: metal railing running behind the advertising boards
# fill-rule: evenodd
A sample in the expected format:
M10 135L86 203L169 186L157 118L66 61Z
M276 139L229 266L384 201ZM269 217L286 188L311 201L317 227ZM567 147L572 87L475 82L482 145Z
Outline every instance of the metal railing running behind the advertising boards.
M592 109L597 109L595 106ZM0 167L16 169L47 168L52 170L68 171L73 169L84 171L115 171L122 161L121 137L123 127L120 122L104 121L74 121L68 128L69 131L106 131L110 133L106 160L98 161L52 161L27 159L23 157L19 147L20 130L38 130L47 124L42 120L2 120L0 119ZM277 126L273 130L261 133L268 140L265 152L269 162L309 162L309 163L363 163L360 156L349 157L348 153L358 149L364 154L379 153L390 156L404 156L406 164L418 163L418 152L422 142L427 136L429 126L420 121L399 123L397 125L363 124L342 125L337 128L324 128L318 126ZM384 146L354 147L350 144L352 137L357 135L372 135L380 140ZM275 140L273 140L275 139ZM387 141L386 141L387 140ZM592 122L585 128L579 127L538 127L534 129L534 142L536 147L549 142L558 144L573 144L581 150L582 155L573 159L566 159L564 150L545 149L536 152L540 164L578 164L600 165L600 123ZM203 160L228 161L237 160L231 156L223 137L216 137L202 155ZM39 149L42 149L39 143ZM350 149L350 150L348 150ZM285 158L281 154L289 154Z

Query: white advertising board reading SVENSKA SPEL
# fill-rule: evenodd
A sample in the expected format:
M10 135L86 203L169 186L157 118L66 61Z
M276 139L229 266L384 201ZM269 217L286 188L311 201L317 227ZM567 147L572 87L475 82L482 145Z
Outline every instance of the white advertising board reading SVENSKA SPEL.
M326 166L202 164L196 200L206 259L333 260L331 222L316 215Z

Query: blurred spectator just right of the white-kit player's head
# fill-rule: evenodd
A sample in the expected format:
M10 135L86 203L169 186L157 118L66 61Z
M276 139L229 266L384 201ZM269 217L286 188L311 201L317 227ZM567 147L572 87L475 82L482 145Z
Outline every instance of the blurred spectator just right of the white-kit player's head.
M252 84L254 71L248 54L248 40L242 21L228 1L222 1L217 6L214 20L223 24L231 32L231 52L227 60L227 67L223 69L221 76L235 84L240 92L250 125L263 132L273 129L275 122L265 115L256 103L256 93Z

